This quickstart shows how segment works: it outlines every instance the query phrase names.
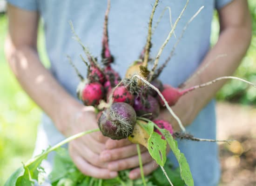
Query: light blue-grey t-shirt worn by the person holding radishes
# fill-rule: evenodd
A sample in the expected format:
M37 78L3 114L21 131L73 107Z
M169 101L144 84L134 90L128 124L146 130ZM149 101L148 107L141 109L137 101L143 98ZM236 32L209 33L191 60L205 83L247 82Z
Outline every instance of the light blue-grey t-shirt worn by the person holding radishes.
M51 62L50 71L63 87L75 96L79 83L74 70L68 64L70 55L74 64L86 76L85 65L81 62L80 45L72 39L68 21L88 46L95 57L101 54L101 38L107 0L7 0L14 6L29 11L38 11L44 20L47 54ZM175 30L177 37L187 21L204 6L202 12L187 28L184 37L175 50L175 55L161 75L163 83L178 86L184 82L202 62L209 51L211 20L214 9L222 8L231 0L191 0ZM166 6L171 7L172 21L178 17L186 0L162 0L157 6L155 19ZM146 42L148 19L154 0L112 0L109 13L110 50L115 56L114 68L123 77L129 64L136 60ZM166 12L153 35L151 56L157 51L170 31L169 16ZM162 53L160 63L169 55L176 38L172 37ZM84 69L82 71L82 69ZM47 115L43 116L38 144L45 141L53 145L63 139ZM187 127L187 131L199 138L216 138L215 103L212 100ZM42 145L40 146L42 148ZM218 149L215 143L179 141L179 148L185 154L195 179L195 186L216 186L220 178ZM169 157L177 165L170 153Z

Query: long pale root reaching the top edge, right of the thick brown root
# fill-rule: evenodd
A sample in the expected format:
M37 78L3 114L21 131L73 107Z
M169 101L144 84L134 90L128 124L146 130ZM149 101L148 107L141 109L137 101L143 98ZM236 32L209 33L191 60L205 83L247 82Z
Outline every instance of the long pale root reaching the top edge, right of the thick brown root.
M185 5L184 8L182 9L182 12L180 13L179 17L178 17L178 18L176 19L176 21L175 21L173 28L172 28L171 31L169 32L169 34L168 34L166 40L164 41L164 43L162 44L160 50L158 51L158 53L157 53L157 55L156 55L156 58L155 58L154 66L153 66L152 70L150 71L149 81L152 80L153 75L154 75L154 72L155 72L155 69L156 69L156 67L157 67L157 65L158 65L158 62L159 62L159 58L160 58L160 56L161 56L161 54L162 54L162 51L163 51L164 47L167 45L167 43L168 43L169 39L171 38L173 32L175 31L175 28L176 28L176 26L177 26L179 20L181 19L182 14L184 13L184 11L185 11L185 9L186 9L188 3L189 3L189 0L187 0L186 5Z

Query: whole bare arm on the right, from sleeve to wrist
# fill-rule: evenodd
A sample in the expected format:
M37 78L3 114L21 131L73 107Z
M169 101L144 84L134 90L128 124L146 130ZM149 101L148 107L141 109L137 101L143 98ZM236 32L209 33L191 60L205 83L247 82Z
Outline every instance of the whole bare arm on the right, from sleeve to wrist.
M208 52L204 58L200 69L210 60L220 54L227 54L225 58L219 58L197 77L191 80L185 88L197 84L206 83L217 77L230 76L234 73L245 55L251 39L251 21L246 0L234 0L227 6L219 10L220 36L216 45ZM214 83L202 89L182 96L172 109L180 117L182 123L187 126L193 122L196 115L220 90L225 80ZM179 126L173 117L165 109L160 118L165 118L174 125L175 130Z

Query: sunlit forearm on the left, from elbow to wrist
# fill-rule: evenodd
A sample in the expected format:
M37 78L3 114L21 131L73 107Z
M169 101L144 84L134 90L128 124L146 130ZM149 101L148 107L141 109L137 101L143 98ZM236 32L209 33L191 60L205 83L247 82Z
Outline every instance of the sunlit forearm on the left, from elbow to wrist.
M61 121L62 116L77 108L79 103L40 63L36 48L15 45L10 37L7 37L6 56L22 88L52 118L61 133L68 135L68 122Z

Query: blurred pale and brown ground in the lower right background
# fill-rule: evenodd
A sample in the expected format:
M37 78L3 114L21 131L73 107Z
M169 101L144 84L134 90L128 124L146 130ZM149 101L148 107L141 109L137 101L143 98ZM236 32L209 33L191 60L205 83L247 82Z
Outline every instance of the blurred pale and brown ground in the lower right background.
M217 139L222 177L219 186L256 186L256 108L217 103Z

